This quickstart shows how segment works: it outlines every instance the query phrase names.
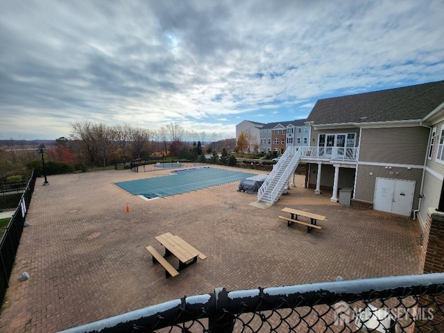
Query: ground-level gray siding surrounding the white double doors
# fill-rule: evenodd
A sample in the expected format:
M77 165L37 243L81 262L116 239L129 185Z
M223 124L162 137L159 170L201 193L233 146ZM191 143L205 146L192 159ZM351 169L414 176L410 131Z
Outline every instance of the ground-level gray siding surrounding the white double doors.
M390 174L393 171L393 175ZM373 175L370 175L370 172ZM399 175L395 175L395 172L399 172ZM375 196L375 184L377 177L392 178L392 179L404 179L415 180L415 195L413 198L413 210L418 209L419 194L422 181L422 169L410 169L392 167L392 169L385 169L385 167L379 167L374 165L361 165L358 166L356 192L355 198L358 200L365 200L373 203Z

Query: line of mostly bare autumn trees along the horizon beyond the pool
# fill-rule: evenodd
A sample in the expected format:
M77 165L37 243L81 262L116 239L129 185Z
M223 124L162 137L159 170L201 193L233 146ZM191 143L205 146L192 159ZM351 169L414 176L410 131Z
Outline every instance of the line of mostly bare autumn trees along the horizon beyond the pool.
M53 145L44 148L44 158L49 167L66 170L66 166L56 165L65 163L74 169L84 169L172 156L197 162L205 161L204 154L230 147L234 150L235 146L235 139L221 140L216 134L187 131L178 123L169 123L157 130L128 124L109 126L93 121L76 121L70 125L72 132L69 138L60 137ZM24 174L39 163L37 147L3 146L0 148L0 180Z

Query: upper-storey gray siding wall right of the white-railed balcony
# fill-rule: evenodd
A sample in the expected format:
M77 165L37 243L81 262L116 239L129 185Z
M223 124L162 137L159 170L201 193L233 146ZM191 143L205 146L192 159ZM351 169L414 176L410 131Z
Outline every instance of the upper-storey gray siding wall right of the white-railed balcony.
M359 161L424 165L429 128L363 128Z

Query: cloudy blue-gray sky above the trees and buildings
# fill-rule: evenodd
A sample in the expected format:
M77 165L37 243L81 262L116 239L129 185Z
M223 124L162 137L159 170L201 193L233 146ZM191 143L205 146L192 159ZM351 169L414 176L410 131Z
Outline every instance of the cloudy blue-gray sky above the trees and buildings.
M444 1L0 0L0 139L244 119L444 79Z

